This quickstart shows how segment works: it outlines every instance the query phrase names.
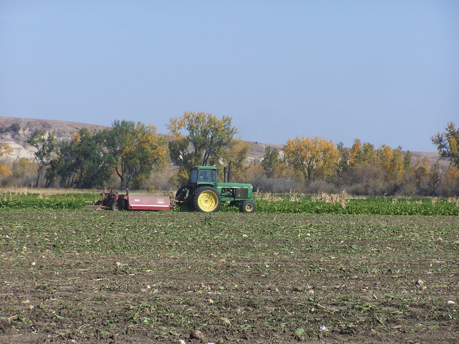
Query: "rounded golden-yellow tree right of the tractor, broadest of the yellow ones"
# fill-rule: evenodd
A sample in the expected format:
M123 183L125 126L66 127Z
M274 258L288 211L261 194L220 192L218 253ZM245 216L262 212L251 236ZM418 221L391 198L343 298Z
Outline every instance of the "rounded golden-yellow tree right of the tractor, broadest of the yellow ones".
M288 139L283 151L285 162L302 172L308 184L314 178L329 178L338 165L336 145L319 136Z

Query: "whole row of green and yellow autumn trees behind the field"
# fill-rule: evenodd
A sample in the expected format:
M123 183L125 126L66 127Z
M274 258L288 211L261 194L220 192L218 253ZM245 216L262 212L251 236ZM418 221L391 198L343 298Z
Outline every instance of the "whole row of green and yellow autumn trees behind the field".
M265 192L459 193L459 128L452 122L431 137L440 158L450 161L447 168L419 157L412 163L411 153L400 146L375 148L355 139L352 147L344 147L319 136L288 139L280 151L268 146L261 161L249 163L250 145L235 139L238 132L231 117L185 112L170 119L167 128L170 139L159 135L154 125L115 120L111 128L80 129L62 142L50 132L37 130L27 141L35 147L34 161L20 159L11 166L4 161L0 174L10 176L3 181L24 181L26 171L35 166L35 187L41 181L45 187L142 189L154 173L167 174L168 186L177 187L186 182L192 166L231 162L234 180ZM0 156L8 150L1 144Z

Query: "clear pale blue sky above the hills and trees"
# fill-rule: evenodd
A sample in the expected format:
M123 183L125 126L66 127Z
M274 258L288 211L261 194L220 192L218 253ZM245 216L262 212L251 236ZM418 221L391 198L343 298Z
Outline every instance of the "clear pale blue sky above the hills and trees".
M185 111L247 141L435 151L459 125L459 1L0 1L0 116Z

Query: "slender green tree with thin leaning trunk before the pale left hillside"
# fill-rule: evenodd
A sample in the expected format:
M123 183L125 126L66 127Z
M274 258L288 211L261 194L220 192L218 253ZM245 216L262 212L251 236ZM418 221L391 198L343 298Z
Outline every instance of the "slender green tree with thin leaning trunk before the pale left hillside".
M29 136L27 143L35 147L35 161L38 164L37 181L35 188L38 187L38 182L41 173L46 166L50 165L53 155L56 153L56 136L52 133L44 133L43 130L37 129Z

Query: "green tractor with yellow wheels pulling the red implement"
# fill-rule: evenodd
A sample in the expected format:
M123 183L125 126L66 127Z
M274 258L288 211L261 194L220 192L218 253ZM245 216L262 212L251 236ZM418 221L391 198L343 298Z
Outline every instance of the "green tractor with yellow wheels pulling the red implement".
M241 212L255 211L252 184L231 183L231 168L224 168L224 181L217 182L216 166L194 166L190 180L175 194L178 204L190 205L196 211L213 213L220 209L223 201L239 206Z

